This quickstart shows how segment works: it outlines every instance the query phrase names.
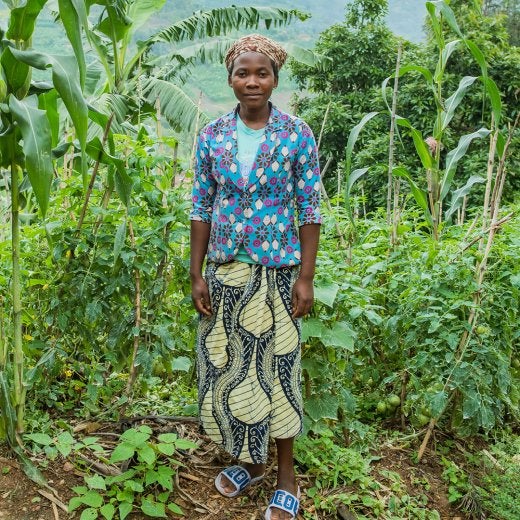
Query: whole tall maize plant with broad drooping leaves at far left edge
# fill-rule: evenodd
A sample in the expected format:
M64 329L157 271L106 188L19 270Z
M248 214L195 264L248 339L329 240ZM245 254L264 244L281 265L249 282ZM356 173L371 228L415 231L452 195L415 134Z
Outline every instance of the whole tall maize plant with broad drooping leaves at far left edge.
M46 0L4 0L6 31L0 28L0 168L10 172L12 247L12 346L0 365L0 434L15 447L24 429L26 386L20 277L20 186L29 183L42 217L49 205L56 158L69 146L59 142L58 100L68 110L86 170L87 104L74 56L51 56L31 48L36 20ZM32 82L32 68L50 69L50 82Z

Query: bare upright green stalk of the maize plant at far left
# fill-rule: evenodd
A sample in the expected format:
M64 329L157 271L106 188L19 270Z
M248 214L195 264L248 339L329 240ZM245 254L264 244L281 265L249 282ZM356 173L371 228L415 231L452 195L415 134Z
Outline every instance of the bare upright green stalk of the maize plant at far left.
M13 296L13 361L14 361L14 407L17 433L23 431L25 391L23 388L22 300L20 284L20 219L19 179L15 162L15 133L11 137L11 250L12 250L12 296Z

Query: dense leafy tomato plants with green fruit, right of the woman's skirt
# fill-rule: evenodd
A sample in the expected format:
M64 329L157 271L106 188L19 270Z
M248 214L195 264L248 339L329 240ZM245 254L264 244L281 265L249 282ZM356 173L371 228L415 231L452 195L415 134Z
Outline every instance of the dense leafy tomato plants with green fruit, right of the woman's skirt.
M385 223L375 216L358 223L362 239L348 255L336 246L332 221L341 218L327 217L317 302L303 324L308 429L332 421L362 433L360 422L371 423L377 403L400 396L403 386L405 400L383 417L402 413L412 427L445 408L444 427L463 435L518 418L517 223L497 237L478 323L468 331L478 261L475 247L462 251L468 225L446 227L435 242L408 212L400 245L389 251ZM465 331L470 339L462 352Z

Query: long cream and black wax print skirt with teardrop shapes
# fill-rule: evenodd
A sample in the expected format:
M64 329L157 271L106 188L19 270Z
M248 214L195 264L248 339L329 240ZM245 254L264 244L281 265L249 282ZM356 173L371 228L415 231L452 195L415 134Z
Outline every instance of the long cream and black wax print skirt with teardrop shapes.
M269 437L302 429L300 324L291 318L297 267L234 261L206 268L212 315L197 355L206 434L243 462L265 463Z

